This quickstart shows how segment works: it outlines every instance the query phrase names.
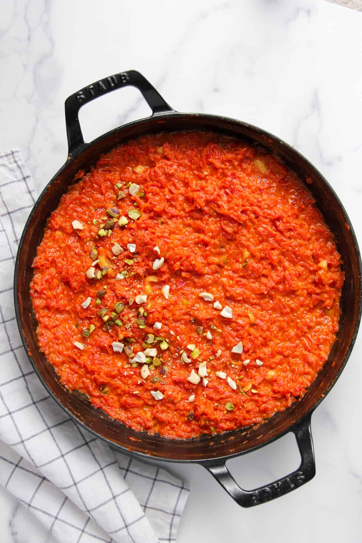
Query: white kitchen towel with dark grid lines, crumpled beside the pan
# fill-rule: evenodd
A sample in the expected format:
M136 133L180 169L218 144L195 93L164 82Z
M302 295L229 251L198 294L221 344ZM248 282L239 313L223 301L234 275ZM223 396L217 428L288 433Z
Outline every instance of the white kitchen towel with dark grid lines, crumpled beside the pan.
M185 484L75 424L43 388L23 349L12 280L34 203L20 151L0 153L0 482L61 543L175 541Z

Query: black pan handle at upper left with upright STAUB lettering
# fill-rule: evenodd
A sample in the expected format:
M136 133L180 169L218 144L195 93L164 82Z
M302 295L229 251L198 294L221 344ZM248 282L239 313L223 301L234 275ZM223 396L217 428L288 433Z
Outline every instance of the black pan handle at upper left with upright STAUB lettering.
M161 94L156 91L155 87L141 73L135 70L115 73L114 75L95 81L91 85L84 87L84 89L74 92L65 101L65 122L69 156L76 154L76 151L81 150L85 146L78 119L78 112L81 106L91 102L91 100L98 98L102 94L107 94L107 92L112 92L126 86L136 87L142 92L144 99L152 110L152 115L174 111L165 102Z

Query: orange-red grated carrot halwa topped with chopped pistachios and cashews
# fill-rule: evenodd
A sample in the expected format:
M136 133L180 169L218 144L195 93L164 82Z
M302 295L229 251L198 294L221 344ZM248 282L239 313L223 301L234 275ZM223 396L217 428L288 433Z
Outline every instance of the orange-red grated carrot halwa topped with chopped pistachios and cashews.
M76 179L30 287L66 387L168 438L249 426L306 392L335 340L344 274L281 159L177 132L116 147Z

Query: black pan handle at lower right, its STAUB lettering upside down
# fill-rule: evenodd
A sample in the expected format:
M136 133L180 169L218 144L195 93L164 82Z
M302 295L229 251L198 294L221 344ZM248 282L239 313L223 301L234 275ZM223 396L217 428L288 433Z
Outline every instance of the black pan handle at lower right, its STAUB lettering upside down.
M313 479L315 475L315 459L313 449L312 432L310 431L310 416L299 426L294 428L293 433L297 440L302 462L299 468L293 473L277 479L270 484L254 490L244 490L239 487L230 471L226 468L225 462L203 464L212 473L218 483L221 484L228 494L242 507L253 507L260 503L266 503L283 494L299 488L302 484Z

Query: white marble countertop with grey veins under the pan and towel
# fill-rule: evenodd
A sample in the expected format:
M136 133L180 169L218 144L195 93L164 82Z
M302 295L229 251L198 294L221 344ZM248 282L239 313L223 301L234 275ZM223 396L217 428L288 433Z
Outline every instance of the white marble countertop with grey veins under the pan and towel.
M130 7L132 5L132 7ZM178 111L217 113L293 144L326 176L362 240L362 14L321 0L8 0L0 20L0 148L20 147L41 190L67 156L65 98L135 68ZM149 114L130 87L86 105L85 139ZM316 476L242 509L200 466L167 465L192 492L176 543L362 539L361 334L312 418ZM244 488L299 464L291 435L228 463ZM0 488L1 541L53 541Z

